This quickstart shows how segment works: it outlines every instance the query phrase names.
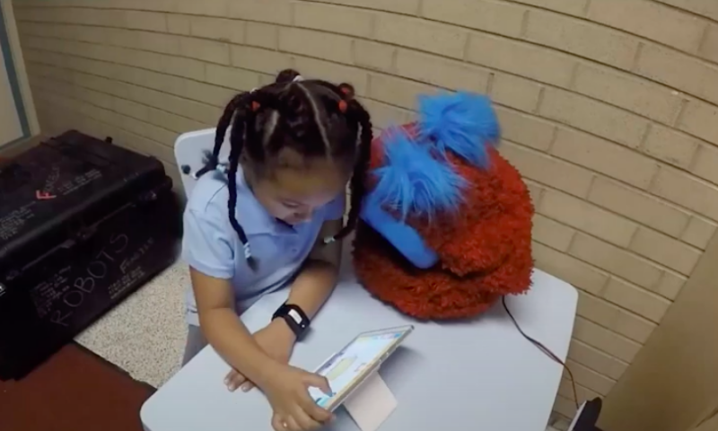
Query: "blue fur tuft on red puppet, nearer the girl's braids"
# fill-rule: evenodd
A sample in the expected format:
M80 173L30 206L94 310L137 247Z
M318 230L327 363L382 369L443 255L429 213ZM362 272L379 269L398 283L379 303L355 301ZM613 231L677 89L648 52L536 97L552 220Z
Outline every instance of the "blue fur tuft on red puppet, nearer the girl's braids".
M417 145L400 129L390 129L383 146L384 165L372 172L378 180L374 202L398 211L402 220L459 207L466 180L451 163L437 160L431 147Z

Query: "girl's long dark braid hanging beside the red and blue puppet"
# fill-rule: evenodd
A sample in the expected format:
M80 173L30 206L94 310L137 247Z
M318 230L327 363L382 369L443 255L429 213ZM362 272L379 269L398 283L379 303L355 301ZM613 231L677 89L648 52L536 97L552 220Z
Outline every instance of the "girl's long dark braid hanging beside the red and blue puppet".
M351 191L351 207L346 225L334 237L334 240L342 240L351 233L362 210L362 201L366 193L366 173L369 171L369 162L372 156L372 120L364 107L358 101L350 102L350 113L355 116L356 121L362 127L359 141L359 154L355 164L354 174L349 185Z

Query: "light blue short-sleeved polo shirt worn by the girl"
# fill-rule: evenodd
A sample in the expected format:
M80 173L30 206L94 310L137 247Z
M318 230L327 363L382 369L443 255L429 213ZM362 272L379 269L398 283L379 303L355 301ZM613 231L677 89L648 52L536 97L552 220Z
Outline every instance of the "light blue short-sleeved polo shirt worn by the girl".
M257 268L244 259L239 236L229 221L226 175L207 172L197 180L185 209L182 257L189 266L217 278L232 279L235 308L247 310L262 295L287 286L318 241L321 225L344 216L345 197L339 196L315 210L311 219L289 226L267 214L237 172L235 214L250 242ZM197 303L189 286L187 321L199 325Z

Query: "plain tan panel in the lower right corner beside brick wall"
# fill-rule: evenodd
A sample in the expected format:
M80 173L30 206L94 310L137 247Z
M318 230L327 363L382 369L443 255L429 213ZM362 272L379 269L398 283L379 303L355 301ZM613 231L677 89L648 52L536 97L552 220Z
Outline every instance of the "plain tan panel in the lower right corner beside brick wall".
M607 431L718 431L718 233L604 400Z

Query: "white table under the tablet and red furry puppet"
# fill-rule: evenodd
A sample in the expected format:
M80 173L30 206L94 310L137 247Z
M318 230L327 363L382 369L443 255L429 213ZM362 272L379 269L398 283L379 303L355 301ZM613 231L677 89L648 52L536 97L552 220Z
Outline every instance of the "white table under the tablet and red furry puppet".
M267 324L286 292L267 295L241 319L250 330ZM507 298L521 329L565 359L577 293L534 271L528 295ZM523 339L501 303L462 323L416 322L373 299L346 277L299 343L292 364L316 366L357 333L412 323L414 333L380 374L398 400L381 431L442 429L539 431L547 425L562 367ZM271 410L261 392L227 391L228 365L205 348L144 403L147 431L269 431ZM346 414L328 430L355 431Z

